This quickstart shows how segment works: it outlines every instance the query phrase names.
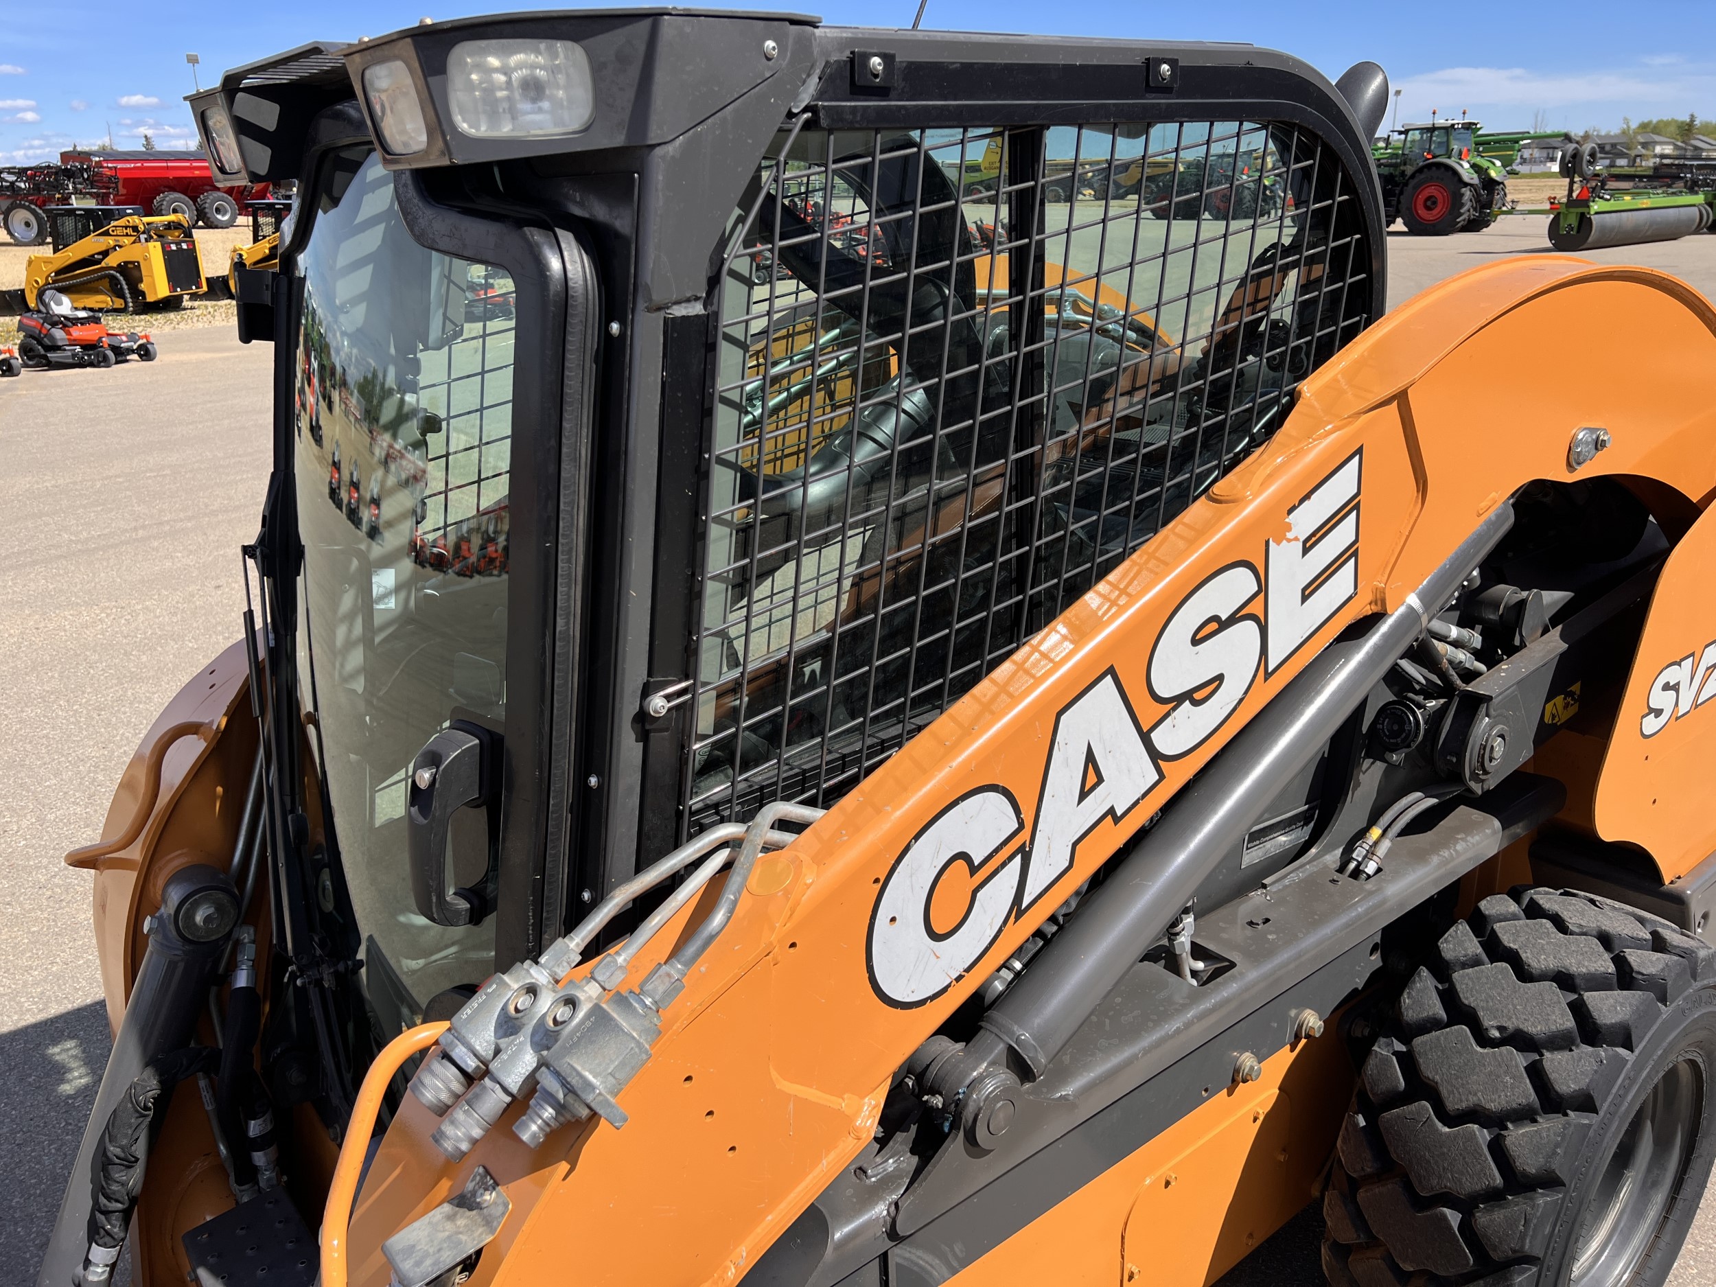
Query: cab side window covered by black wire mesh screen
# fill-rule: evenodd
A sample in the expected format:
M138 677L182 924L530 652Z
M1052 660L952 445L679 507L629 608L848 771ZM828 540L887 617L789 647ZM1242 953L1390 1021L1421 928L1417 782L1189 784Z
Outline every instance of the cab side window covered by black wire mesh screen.
M1285 417L1366 323L1268 122L782 136L719 290L690 832L827 805Z

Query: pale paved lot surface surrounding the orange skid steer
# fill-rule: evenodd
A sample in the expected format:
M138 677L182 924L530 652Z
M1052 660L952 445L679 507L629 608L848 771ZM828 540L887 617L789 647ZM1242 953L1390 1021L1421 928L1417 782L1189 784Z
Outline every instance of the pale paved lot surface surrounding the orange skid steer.
M1476 235L1390 237L1397 304L1496 254L1546 251L1541 216ZM1603 251L1716 297L1716 237ZM268 474L269 348L184 331L154 366L0 381L0 1287L34 1280L108 1031L89 879L60 863L94 839L137 738L239 633L239 544ZM1301 1217L1227 1287L1321 1282ZM1716 1284L1716 1205L1671 1287Z

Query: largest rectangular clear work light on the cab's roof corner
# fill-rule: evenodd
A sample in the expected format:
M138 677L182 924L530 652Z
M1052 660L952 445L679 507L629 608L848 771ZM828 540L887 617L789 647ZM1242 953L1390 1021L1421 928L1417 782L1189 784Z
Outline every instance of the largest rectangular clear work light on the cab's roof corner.
M595 115L590 57L570 39L467 39L446 58L453 122L474 139L577 134Z

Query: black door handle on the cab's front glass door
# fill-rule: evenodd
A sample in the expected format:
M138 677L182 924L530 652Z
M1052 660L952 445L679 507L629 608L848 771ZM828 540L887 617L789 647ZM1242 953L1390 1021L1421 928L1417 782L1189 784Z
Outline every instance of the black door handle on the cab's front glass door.
M477 885L451 887L448 837L453 815L467 807L491 807L499 795L501 736L480 724L455 719L417 752L412 762L405 819L410 834L412 897L436 925L477 925L489 913ZM492 824L489 832L492 836ZM492 855L492 844L487 846ZM486 856L487 856L486 855Z

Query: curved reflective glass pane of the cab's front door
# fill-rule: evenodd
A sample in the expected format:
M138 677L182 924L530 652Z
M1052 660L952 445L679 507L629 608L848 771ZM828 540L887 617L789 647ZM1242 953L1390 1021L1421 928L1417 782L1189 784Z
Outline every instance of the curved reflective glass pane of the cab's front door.
M499 728L506 705L513 283L427 251L367 153L340 158L300 257L293 360L300 631L353 909L379 1014L410 1023L431 995L492 970L492 920L417 915L407 774L453 717ZM467 810L468 812L468 810ZM460 843L479 884L486 829ZM474 856L472 856L474 855Z

